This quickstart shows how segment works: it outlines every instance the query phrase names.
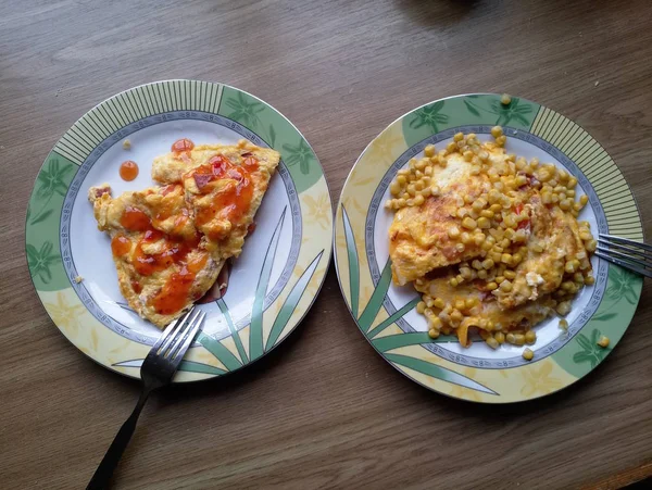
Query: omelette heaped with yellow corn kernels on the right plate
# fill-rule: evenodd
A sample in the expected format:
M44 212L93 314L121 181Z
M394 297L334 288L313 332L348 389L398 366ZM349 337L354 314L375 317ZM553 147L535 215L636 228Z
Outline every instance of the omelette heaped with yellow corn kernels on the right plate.
M534 344L532 327L570 311L594 282L597 242L577 221L588 203L577 179L506 153L499 126L491 134L493 141L459 133L446 149L427 146L399 171L386 206L394 212L393 280L422 293L416 310L430 337L454 334L468 347L477 331L497 349Z

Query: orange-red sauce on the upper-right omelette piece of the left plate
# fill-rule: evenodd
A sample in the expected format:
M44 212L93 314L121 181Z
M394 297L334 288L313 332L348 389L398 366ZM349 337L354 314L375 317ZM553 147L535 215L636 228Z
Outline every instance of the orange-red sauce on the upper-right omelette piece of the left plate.
M228 183L215 191L210 206L197 211L196 223L199 226L205 225L217 215L231 223L239 221L249 211L253 198L251 172L258 166L259 162L253 156L248 156L241 166L237 166L226 156L216 155L205 165L196 168L193 178L201 193L214 191L213 183L216 180L227 179Z

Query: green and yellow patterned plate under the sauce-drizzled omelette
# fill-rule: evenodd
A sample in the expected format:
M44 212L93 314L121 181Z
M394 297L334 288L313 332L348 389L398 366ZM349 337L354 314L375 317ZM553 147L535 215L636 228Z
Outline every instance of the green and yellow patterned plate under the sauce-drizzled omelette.
M98 231L90 186L116 194L153 184L154 156L179 138L235 143L247 138L281 154L242 254L200 300L206 319L175 381L222 376L278 345L317 294L331 250L330 196L324 172L299 130L274 108L237 88L167 80L118 93L86 113L41 167L26 218L26 254L52 322L82 352L138 377L160 330L129 310L117 287L109 237ZM128 139L130 149L123 148ZM135 161L133 181L118 175Z

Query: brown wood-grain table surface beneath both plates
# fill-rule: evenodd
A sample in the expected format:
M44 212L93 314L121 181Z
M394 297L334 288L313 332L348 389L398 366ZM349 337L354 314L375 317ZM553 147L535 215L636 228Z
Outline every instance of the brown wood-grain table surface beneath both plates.
M41 162L121 90L178 77L261 97L313 145L334 201L355 158L401 114L461 92L518 95L602 142L652 237L648 0L0 3L0 488L83 488L137 399L136 382L52 325L24 256ZM268 357L154 395L116 487L625 485L652 473L651 300L648 281L622 343L573 388L479 406L383 361L331 267L305 322Z

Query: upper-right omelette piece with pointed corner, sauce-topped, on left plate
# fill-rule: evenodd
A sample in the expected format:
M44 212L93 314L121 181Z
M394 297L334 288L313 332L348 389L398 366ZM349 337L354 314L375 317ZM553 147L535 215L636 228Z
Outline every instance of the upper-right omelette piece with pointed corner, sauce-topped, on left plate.
M175 149L175 147L173 147ZM154 160L152 177L180 184L195 225L214 260L238 256L280 155L241 140L237 146L181 146Z

